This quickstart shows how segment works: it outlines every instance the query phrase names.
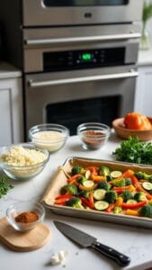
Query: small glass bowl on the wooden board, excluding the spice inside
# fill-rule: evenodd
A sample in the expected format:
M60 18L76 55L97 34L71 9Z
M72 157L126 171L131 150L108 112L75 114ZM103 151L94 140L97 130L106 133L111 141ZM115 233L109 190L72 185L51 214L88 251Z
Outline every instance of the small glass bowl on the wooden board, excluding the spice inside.
M18 222L15 218L21 213L27 213L29 211L33 211L38 215L38 220L23 223ZM13 226L13 229L26 231L30 229L34 229L40 222L44 220L45 217L45 209L40 202L15 202L10 205L6 210L6 218L10 225Z

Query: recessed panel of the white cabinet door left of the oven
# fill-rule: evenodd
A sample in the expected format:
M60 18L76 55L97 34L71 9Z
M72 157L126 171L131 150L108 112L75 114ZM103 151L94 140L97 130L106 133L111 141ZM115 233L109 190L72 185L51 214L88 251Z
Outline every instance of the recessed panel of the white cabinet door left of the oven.
M0 146L13 141L11 89L0 87Z

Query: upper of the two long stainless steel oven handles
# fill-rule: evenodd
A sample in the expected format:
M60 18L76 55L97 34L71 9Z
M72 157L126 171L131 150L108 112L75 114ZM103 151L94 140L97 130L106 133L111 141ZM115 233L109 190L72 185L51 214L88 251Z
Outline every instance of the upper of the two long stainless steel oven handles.
M96 42L104 40L129 40L140 38L141 34L139 32L124 33L124 34L114 34L114 35L102 35L102 36L90 36L90 37L74 37L74 38L62 38L62 39L40 39L40 40L24 40L25 45L51 45L51 44L61 44L61 43L71 43L71 42Z

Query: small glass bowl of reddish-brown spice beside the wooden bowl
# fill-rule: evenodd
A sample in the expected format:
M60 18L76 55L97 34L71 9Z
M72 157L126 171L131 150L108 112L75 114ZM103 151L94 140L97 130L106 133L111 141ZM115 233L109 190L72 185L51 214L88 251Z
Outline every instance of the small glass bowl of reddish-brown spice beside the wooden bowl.
M87 150L102 148L111 135L111 128L100 122L85 122L77 127L77 135Z

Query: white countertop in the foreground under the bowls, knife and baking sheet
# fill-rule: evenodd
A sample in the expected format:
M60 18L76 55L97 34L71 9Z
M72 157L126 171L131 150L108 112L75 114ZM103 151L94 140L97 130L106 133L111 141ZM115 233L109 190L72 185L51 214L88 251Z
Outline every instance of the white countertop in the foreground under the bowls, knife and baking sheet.
M39 201L58 166L62 165L67 157L112 159L112 151L118 147L118 142L119 139L112 135L112 138L103 148L96 151L86 151L81 147L76 136L70 137L64 148L50 155L49 163L40 175L29 181L13 181L13 190L0 200L0 218L4 217L7 207L13 202L20 200ZM130 256L130 266L124 267L125 270L143 270L152 266L152 229L66 217L47 210L44 222L51 231L49 242L44 247L31 252L15 252L0 244L0 268L2 270L16 270L20 266L22 270L59 270L63 267L66 270L122 269L111 259L101 256L91 248L76 246L55 228L53 220L65 221L78 229L85 230L86 233L92 234L103 244ZM68 251L66 264L64 266L50 266L51 255L63 249Z

